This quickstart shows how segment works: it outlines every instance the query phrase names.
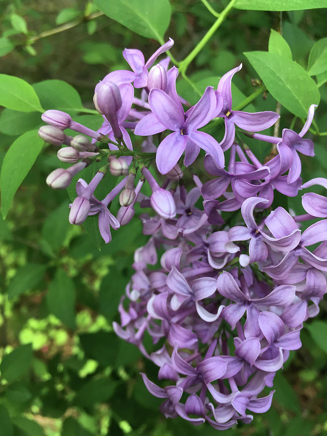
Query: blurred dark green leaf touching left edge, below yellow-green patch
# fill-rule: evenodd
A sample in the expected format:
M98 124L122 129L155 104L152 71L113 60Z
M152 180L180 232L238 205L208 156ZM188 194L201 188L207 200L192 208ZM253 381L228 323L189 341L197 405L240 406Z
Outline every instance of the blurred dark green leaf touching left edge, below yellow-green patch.
M30 368L33 357L31 344L20 345L10 354L6 354L1 362L0 371L9 383L24 375Z

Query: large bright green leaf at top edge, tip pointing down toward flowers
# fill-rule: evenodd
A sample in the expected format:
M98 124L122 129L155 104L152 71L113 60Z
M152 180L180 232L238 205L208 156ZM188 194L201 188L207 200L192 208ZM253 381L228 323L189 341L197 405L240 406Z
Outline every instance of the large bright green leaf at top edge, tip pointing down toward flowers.
M94 3L109 18L163 44L171 19L169 0L95 0Z

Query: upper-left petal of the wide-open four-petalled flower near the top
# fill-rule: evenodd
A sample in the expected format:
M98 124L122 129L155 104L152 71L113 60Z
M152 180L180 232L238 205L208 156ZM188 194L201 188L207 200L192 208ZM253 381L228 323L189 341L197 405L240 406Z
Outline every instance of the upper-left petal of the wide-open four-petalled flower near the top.
M149 104L156 118L167 129L178 131L184 127L184 110L180 102L176 102L161 89L152 89Z

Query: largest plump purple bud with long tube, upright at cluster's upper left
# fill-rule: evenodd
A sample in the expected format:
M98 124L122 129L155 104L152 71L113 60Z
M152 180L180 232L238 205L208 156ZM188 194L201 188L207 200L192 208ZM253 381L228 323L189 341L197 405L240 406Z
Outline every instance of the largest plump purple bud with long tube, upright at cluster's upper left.
M109 121L115 138L121 138L117 111L122 107L122 97L118 86L113 82L101 83L93 101L96 110L104 114Z

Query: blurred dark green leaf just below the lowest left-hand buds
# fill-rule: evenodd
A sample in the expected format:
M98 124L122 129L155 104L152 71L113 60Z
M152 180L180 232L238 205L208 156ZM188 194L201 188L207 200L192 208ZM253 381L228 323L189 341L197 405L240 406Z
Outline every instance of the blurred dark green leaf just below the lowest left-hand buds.
M68 229L71 227L68 215L68 202L64 202L47 216L42 226L43 242L47 243L50 255L53 255L62 247Z

